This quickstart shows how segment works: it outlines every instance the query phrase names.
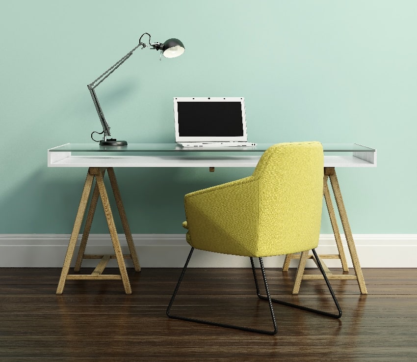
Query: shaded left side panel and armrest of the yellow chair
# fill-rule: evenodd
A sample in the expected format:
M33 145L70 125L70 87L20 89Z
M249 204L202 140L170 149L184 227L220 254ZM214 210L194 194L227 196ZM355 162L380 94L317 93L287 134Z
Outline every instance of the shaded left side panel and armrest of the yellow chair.
M196 249L255 256L258 180L252 176L185 195L187 241Z

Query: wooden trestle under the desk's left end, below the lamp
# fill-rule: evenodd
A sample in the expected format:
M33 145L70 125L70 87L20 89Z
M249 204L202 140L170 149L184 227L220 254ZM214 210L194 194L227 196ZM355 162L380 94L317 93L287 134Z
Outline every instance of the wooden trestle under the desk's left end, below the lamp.
M113 214L111 212L110 203L108 200L107 191L104 185L104 173L107 170L108 177L110 179L111 188L113 191L114 198L116 200L117 208L119 210L120 219L122 221L123 229L126 235L126 240L128 242L130 254L123 255L122 249L120 247L119 238L117 236L116 226L113 220ZM90 207L88 209L88 214L84 226L84 231L82 233L81 243L79 246L77 261L75 264L74 271L78 272L81 267L82 259L101 259L97 267L94 269L91 275L85 274L69 274L71 260L74 255L75 246L78 239L78 234L81 229L81 223L84 218L84 213L87 208L87 203L89 196L91 194L91 189L93 185L93 181L96 179L96 184L94 186L93 195L90 202ZM93 222L94 213L96 211L97 202L101 197L104 214L107 221L108 229L111 236L111 241L114 248L114 255L87 255L84 254L85 247L87 245L88 235L90 234L91 224ZM107 262L110 259L117 259L117 264L119 266L119 274L102 274ZM90 167L88 169L87 178L84 183L84 189L81 194L81 200L78 206L78 212L76 216L76 220L74 223L74 228L71 233L70 242L68 244L67 253L64 259L64 265L61 271L61 277L59 278L58 288L56 290L56 294L62 294L64 290L65 281L68 279L122 279L123 286L125 288L126 294L131 294L132 290L130 287L130 281L128 278L128 273L126 271L126 264L124 259L131 259L133 261L133 266L135 271L140 271L140 265L138 261L138 257L136 254L136 250L133 244L133 238L130 232L130 227L128 223L128 219L126 217L125 209L123 207L122 198L120 196L119 187L116 181L116 175L114 173L113 167Z

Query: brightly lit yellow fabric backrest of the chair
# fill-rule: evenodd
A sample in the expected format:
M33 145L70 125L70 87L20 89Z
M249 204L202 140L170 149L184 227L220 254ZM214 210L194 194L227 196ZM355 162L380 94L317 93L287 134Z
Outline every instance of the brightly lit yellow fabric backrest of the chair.
M262 155L258 181L258 253L282 255L317 247L323 199L320 142L279 143Z

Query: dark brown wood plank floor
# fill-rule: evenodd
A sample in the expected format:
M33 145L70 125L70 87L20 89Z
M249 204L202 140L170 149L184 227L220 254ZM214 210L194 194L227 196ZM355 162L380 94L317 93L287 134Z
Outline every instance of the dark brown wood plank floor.
M279 331L269 336L167 318L180 269L129 270L131 295L118 280L71 280L55 295L60 269L1 268L0 361L417 361L417 269L363 271L368 295L354 281L331 281L340 320L276 305ZM324 281L303 281L297 297L293 270L267 276L276 298L334 310ZM250 269L186 277L175 312L271 327Z

